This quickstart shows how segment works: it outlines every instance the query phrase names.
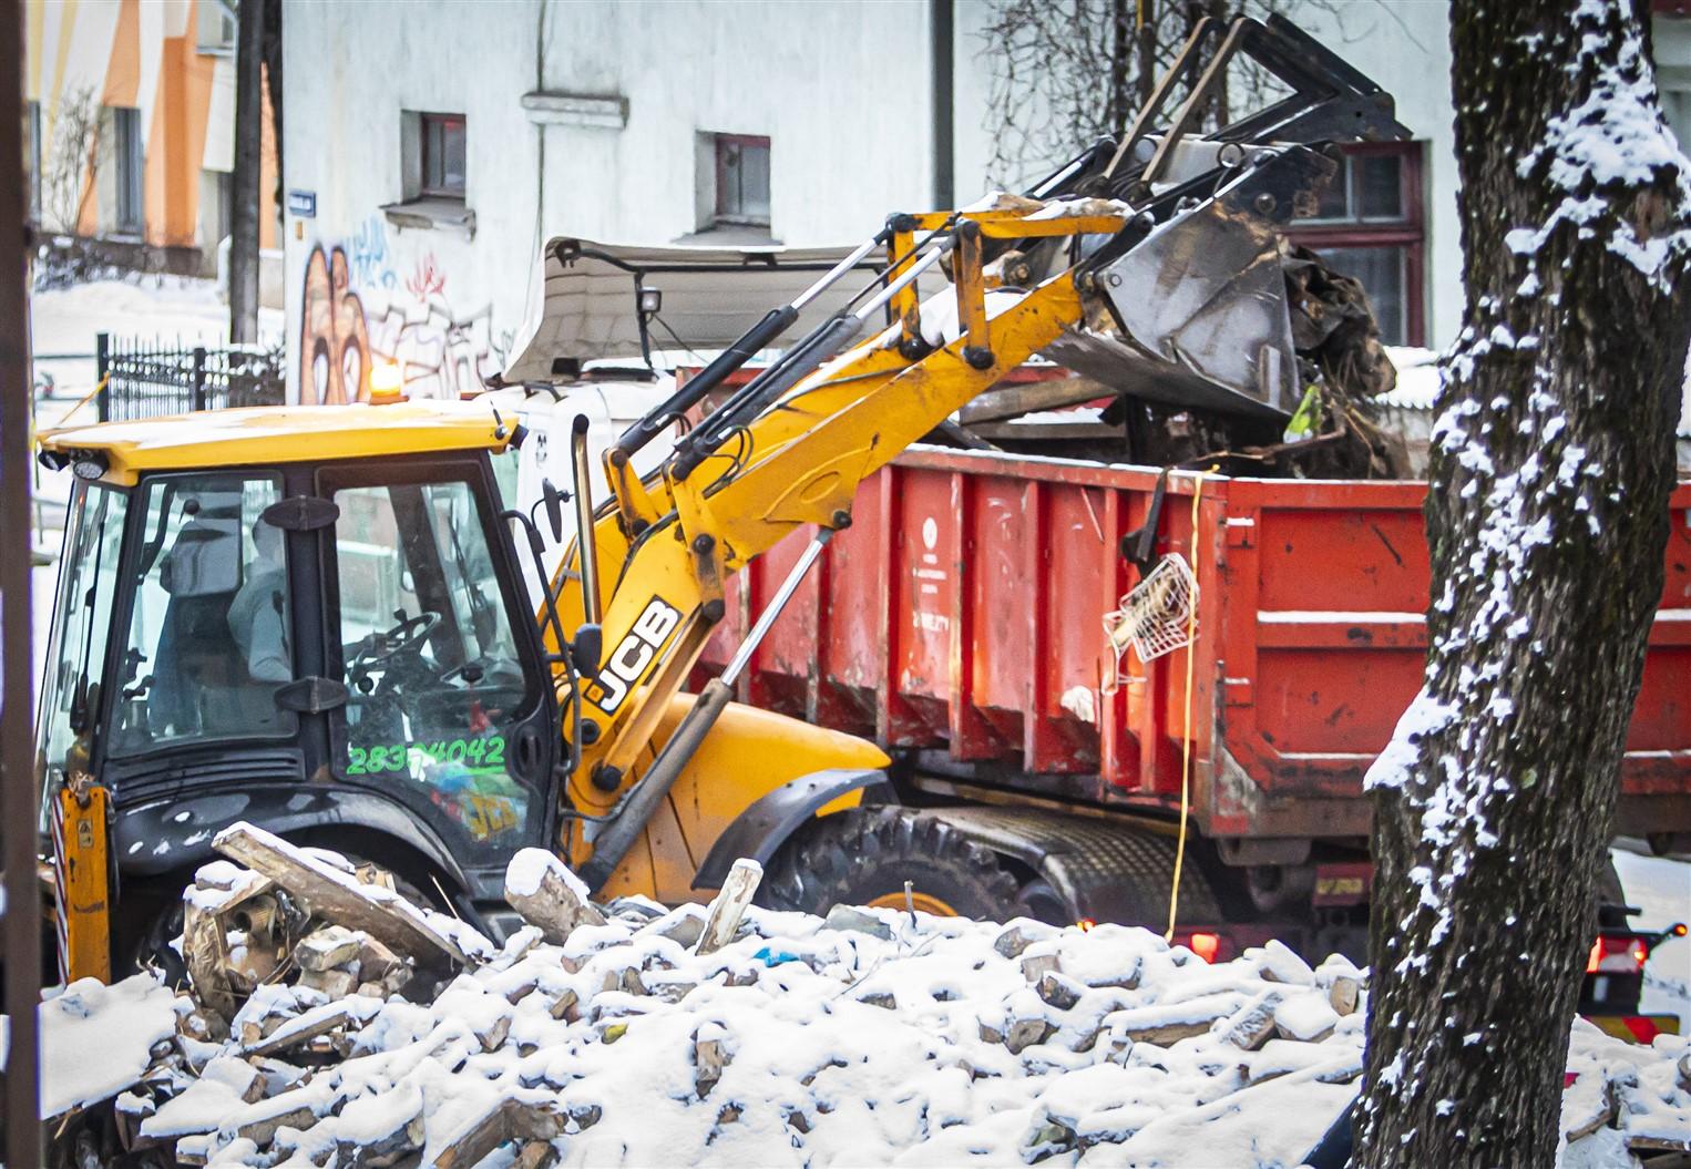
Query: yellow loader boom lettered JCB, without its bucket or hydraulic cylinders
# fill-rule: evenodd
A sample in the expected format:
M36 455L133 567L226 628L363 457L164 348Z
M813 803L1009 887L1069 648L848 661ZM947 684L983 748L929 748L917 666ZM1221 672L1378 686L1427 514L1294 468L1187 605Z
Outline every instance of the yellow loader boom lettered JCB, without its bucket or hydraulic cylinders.
M1018 217L988 211L957 222L982 218L1008 232ZM1114 233L1123 223L1121 215L1091 215L1015 230ZM906 310L906 320L802 379L685 477L675 474L675 458L646 482L607 464L614 497L594 526L605 655L599 680L585 685L582 714L592 729L568 785L578 810L604 815L639 782L671 697L722 617L722 585L734 572L795 528L847 526L867 475L1081 321L1081 294L1067 269L1028 293L996 293L994 301L1018 299L988 321L979 249L954 250L959 320L974 321L972 332L906 357L900 342L920 330ZM966 349L976 352L966 357ZM565 628L585 619L577 562L572 550L555 579Z

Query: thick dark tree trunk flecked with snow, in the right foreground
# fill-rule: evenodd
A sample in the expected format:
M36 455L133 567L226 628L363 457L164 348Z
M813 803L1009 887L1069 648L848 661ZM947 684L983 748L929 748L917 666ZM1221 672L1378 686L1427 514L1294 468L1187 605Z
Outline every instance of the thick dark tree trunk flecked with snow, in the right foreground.
M1554 1161L1691 338L1691 183L1632 3L1456 0L1451 47L1468 310L1426 685L1368 773L1370 1169Z

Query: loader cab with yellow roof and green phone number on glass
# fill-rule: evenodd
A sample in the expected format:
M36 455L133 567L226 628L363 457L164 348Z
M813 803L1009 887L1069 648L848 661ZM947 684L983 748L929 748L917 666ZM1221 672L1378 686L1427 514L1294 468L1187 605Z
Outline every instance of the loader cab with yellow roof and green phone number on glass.
M120 871L216 829L365 831L470 888L550 839L556 699L487 406L198 414L46 436L78 472L37 721ZM357 849L352 849L357 851Z

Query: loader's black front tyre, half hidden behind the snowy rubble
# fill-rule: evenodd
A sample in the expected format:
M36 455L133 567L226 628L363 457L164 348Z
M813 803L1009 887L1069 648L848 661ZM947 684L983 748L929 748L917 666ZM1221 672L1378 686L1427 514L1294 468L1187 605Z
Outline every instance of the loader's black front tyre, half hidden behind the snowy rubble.
M896 807L852 809L812 820L769 859L769 908L827 914L834 905L905 908L1003 920L1018 910L1016 878L950 824Z

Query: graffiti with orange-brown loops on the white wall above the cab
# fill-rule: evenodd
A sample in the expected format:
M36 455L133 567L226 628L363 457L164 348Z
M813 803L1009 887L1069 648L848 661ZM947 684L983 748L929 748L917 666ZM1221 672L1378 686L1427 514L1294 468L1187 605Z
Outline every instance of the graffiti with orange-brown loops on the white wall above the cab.
M504 367L511 333L494 333L492 305L458 311L433 252L401 277L387 225L367 218L345 244L306 259L299 401L369 401L370 370L391 364L409 398L460 398Z

